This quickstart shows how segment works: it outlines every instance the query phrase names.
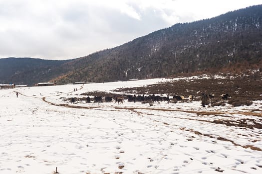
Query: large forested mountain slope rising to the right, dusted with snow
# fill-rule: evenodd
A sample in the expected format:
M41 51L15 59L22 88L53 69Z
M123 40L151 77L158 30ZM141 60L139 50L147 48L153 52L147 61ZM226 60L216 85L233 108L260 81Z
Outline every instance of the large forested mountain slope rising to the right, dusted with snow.
M48 69L15 71L11 80L66 84L262 70L262 5L178 23L118 47L60 63Z

